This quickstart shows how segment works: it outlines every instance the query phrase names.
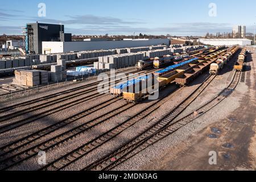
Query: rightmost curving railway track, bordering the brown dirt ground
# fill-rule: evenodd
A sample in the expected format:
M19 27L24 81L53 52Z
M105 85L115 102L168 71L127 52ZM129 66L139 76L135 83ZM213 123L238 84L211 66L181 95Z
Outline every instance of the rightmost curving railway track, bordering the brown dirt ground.
M164 119L168 119L169 121L166 126L156 131L152 131L150 135L147 135L142 139L140 139L141 135L135 137L134 139L131 139L129 142L123 144L123 146L117 148L117 150L104 156L100 160L97 160L97 162L94 162L93 164L85 167L83 170L106 171L119 166L119 164L137 155L139 152L145 150L152 144L155 144L156 142L159 142L160 140L166 138L168 135L175 133L175 131L179 130L181 127L188 125L188 123L191 123L196 118L199 118L201 115L216 107L218 104L224 101L225 98L227 98L234 91L234 89L236 89L240 78L241 72L236 72L228 88L222 90L222 92L218 94L217 97L214 97L212 100L207 102L207 104L201 106L199 109L196 110L199 114L188 114L187 116L179 119L176 122L171 122L172 120L166 117Z

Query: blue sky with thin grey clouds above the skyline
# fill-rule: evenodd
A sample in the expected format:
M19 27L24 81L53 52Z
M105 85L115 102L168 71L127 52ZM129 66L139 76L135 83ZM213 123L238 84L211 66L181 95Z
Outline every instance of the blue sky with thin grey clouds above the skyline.
M45 3L46 17L38 16L39 3ZM217 16L209 16L210 3ZM36 20L63 23L76 35L205 35L231 32L236 24L253 32L255 9L254 0L12 0L1 2L0 34L21 34L20 27Z

